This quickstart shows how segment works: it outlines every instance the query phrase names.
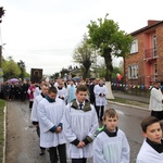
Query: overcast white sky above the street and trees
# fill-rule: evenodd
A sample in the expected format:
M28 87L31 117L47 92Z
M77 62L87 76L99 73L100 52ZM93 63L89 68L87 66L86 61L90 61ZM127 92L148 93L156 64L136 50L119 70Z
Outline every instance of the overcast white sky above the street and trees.
M98 18L113 20L127 34L163 21L162 0L1 0L5 15L0 24L4 59L25 62L26 71L43 68L51 75L75 66L73 51ZM118 60L114 59L114 65Z

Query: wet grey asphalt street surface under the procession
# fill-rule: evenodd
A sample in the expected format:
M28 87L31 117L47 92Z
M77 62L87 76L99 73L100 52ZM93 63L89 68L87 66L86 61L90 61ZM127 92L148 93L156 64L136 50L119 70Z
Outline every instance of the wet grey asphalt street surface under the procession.
M50 163L49 153L39 155L39 140L29 121L28 101L7 103L7 163ZM142 143L140 122L150 112L117 104L111 104L118 113L118 127L126 133L130 146L130 163L135 163ZM71 163L71 161L67 161ZM88 160L92 163L92 159Z

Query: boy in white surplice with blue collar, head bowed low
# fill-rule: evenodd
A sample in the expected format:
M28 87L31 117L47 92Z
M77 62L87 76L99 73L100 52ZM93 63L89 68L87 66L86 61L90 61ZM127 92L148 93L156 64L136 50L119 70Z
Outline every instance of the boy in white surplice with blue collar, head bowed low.
M62 134L62 117L65 109L63 100L57 98L57 88L50 87L48 96L37 108L40 127L40 147L49 148L50 162L57 163L59 151L60 163L66 163L65 139Z

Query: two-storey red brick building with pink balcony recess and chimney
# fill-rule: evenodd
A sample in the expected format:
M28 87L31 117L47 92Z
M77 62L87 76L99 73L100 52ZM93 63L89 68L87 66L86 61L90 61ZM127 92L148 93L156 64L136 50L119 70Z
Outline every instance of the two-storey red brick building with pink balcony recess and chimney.
M163 21L148 21L148 25L130 34L134 37L130 54L124 59L126 85L163 83Z

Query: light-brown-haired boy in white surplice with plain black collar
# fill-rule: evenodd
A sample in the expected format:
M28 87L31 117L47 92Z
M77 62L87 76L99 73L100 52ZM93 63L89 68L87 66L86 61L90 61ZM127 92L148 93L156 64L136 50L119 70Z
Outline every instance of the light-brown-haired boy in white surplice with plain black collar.
M114 109L104 112L104 127L93 141L93 163L129 163L127 138L117 128L117 113Z

